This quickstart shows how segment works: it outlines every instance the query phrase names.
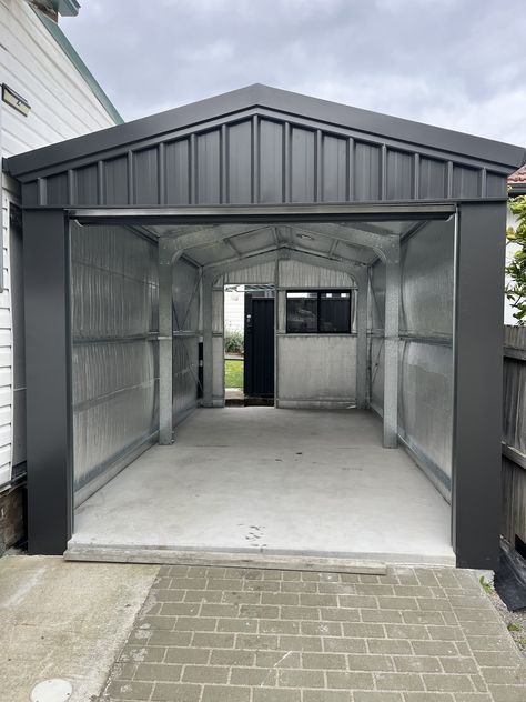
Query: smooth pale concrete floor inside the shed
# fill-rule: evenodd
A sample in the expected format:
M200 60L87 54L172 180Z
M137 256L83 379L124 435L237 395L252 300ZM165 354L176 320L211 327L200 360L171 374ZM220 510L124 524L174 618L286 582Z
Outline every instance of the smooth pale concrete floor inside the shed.
M75 513L70 546L454 564L449 507L370 412L198 410Z

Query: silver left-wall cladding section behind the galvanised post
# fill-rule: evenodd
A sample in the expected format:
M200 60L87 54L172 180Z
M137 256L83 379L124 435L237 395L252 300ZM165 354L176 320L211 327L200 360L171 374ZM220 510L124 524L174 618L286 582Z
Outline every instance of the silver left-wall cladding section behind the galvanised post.
M173 265L172 408L175 423L198 404L200 283L198 268L182 259Z

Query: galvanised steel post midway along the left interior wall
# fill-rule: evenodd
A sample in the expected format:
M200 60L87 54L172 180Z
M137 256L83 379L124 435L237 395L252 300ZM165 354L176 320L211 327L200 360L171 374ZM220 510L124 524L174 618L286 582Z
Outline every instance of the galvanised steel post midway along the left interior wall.
M159 443L173 443L173 242L159 240Z

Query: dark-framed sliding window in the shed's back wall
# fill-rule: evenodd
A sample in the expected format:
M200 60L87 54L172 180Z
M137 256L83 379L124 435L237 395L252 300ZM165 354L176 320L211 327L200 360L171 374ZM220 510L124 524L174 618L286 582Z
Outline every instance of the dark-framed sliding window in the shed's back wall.
M350 290L289 290L287 334L350 334Z

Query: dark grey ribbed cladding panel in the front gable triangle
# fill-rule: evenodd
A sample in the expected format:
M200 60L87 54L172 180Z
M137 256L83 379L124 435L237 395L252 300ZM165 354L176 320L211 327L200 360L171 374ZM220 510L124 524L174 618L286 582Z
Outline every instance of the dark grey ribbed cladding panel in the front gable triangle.
M275 204L506 194L505 174L475 159L293 116L262 117L257 110L221 121L152 138L148 148L113 149L81 166L48 169L24 185L24 204Z

